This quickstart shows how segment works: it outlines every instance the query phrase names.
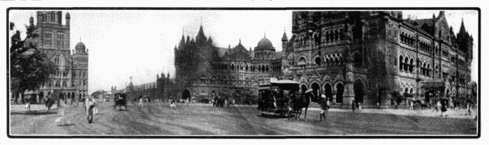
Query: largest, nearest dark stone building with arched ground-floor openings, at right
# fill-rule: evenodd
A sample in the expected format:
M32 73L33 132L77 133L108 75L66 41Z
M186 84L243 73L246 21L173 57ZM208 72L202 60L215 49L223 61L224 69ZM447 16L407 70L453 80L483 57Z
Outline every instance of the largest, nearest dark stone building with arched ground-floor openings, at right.
M295 11L283 39L283 77L337 103L387 105L394 91L427 101L463 97L471 75L472 36L457 35L444 11L406 20L402 12Z

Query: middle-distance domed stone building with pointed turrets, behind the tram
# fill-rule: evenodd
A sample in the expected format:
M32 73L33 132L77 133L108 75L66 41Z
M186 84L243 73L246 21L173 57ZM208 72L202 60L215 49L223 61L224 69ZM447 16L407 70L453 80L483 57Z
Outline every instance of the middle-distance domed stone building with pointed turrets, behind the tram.
M200 26L196 38L182 36L175 46L175 95L177 98L235 96L258 93L258 79L279 77L282 52L266 36L254 50L245 48L241 40L234 47L217 47Z

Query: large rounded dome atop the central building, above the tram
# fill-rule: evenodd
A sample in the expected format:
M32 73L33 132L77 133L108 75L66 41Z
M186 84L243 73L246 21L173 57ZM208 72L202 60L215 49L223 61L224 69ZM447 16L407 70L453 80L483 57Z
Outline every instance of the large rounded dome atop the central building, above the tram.
M254 49L256 60L272 60L275 56L275 47L268 38L263 37Z

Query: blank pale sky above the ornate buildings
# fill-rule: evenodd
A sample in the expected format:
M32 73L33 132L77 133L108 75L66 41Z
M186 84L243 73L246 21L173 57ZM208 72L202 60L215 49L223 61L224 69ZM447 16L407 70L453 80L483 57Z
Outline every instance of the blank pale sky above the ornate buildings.
M156 82L156 74L175 77L173 48L185 36L196 36L203 25L214 45L256 47L264 35L277 51L282 50L282 34L291 36L290 10L68 10L71 15L71 49L80 39L89 49L89 93L110 91L110 86L124 89L133 77L134 84ZM431 18L430 10L405 10L404 17ZM474 37L472 80L478 79L478 15L477 11L447 10L448 24L458 33L462 17L465 29ZM10 22L22 32L35 18L33 10L10 10ZM34 19L36 23L36 19ZM183 31L182 31L183 29Z

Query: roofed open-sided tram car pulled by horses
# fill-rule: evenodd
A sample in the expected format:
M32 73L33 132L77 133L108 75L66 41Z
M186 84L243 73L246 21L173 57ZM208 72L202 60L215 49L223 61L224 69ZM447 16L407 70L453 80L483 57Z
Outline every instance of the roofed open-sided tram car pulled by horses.
M292 117L291 96L299 90L299 82L262 79L258 82L260 100L258 109L262 116Z

